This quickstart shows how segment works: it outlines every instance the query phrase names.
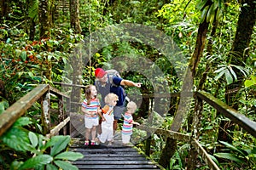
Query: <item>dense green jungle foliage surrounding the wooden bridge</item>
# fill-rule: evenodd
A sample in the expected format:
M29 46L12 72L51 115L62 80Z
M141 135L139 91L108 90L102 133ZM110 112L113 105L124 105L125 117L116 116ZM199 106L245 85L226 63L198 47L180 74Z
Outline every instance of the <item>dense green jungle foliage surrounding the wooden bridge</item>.
M253 5L255 7L255 1L238 3L225 0L79 0L80 33L70 26L71 14L69 6L64 5L66 3L60 6L58 2L61 1L48 0L47 2L52 15L49 31L45 32L46 37L40 37L41 16L38 15L40 12L38 0L3 0L0 5L0 79L3 81L0 86L0 114L38 83L49 83L56 88L61 88L54 82L73 82L68 77L62 76L66 71L65 66L70 61L73 49L79 45L79 42L83 42L84 37L90 37L94 31L122 23L152 26L165 32L176 42L177 47L187 59L187 61L180 61L178 67L185 69L196 49L197 35L201 33L199 26L206 22L207 37L201 58L198 65L195 65L194 90L200 88L230 106L237 105L238 111L256 121L255 23L253 23L251 37L247 37L249 45L244 49L244 53L234 51L236 28L241 11ZM251 17L254 19L256 17L255 8ZM137 56L143 56L153 61L165 75L156 78L166 82L170 93L180 92L183 81L177 76L176 68L164 54L160 54L158 49L139 41L114 42L100 49L96 54L92 54L90 63L83 65L81 84L87 85L94 82L93 71L96 67L112 68L114 65L109 64L108 60L113 58L119 58L120 68L125 70L129 66L122 61L125 54L129 54L134 59ZM128 71L122 72L122 77L134 82L143 82L143 88L139 91L127 88L128 94L154 94L154 87L143 75ZM227 96L232 93L233 96ZM146 104L149 100L143 102ZM172 99L162 128L170 129L172 126L177 105L178 99ZM192 102L188 117L193 117L194 105L195 103ZM42 169L45 166L53 169L65 166L70 167L69 169L74 168L63 161L74 161L75 158L80 157L79 154L65 151L70 138L56 136L49 141L44 139L40 134L42 133L40 121L34 119L39 114L38 106L33 107L32 111L26 113L25 118L19 119L7 133L1 136L1 166L11 169L15 167ZM147 109L143 106L139 109L136 115L138 122L143 122L143 119L147 118ZM181 132L190 133L190 124L189 118L186 119ZM209 105L203 107L198 131L201 133L199 139L201 144L222 169L256 169L255 138ZM221 131L224 133L219 133ZM137 130L134 132L135 136L140 133L142 132ZM165 140L155 134L152 137L154 147L151 148L151 157L156 161L160 160L160 150L164 147ZM60 141L63 145L58 145ZM144 150L144 144L138 144L138 146ZM185 169L189 144L177 143L177 146L168 168ZM47 151L50 147L54 148L52 150L55 153ZM37 166L32 167L32 165ZM207 165L199 158L196 168L207 169Z

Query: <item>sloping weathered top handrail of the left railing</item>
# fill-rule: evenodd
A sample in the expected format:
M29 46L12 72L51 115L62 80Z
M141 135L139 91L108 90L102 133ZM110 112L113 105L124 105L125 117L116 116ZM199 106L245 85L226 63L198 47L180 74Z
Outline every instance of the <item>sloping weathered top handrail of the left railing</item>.
M14 105L3 111L0 115L0 136L48 90L49 85L38 85L37 88L32 89L31 92L16 101Z

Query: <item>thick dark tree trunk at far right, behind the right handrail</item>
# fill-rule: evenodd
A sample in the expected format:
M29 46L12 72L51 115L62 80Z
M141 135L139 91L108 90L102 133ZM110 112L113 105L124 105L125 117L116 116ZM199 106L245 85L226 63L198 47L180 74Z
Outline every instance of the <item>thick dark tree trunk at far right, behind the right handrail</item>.
M247 54L249 52L249 43L253 34L253 26L256 21L256 10L254 0L241 1L241 14L239 14L236 37L230 52L231 64L240 65L244 67L247 61ZM231 55L232 54L232 55ZM230 105L235 110L238 110L240 102L240 89L243 85L244 76L241 71L236 70L237 82L226 86L225 100L227 105ZM227 135L225 132L232 132L235 124L232 122L221 122L222 128L218 133L218 140L232 142L232 134Z

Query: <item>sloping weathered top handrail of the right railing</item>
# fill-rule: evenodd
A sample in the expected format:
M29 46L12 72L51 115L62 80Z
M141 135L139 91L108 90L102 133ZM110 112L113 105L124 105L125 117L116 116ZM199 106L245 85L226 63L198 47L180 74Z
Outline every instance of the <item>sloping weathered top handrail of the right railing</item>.
M241 115L238 111L232 109L229 105L214 98L211 94L207 94L204 91L196 93L198 97L205 100L208 104L212 105L217 111L224 114L224 116L230 118L231 121L236 122L243 127L248 133L251 133L256 137L256 122L253 122L247 116Z

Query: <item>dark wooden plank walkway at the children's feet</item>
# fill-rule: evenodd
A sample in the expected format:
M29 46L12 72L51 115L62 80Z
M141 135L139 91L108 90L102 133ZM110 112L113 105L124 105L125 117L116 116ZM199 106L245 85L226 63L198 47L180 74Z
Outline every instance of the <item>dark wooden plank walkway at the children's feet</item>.
M84 140L75 139L71 151L80 152L83 159L73 161L79 169L163 169L150 161L132 146L123 146L119 141L113 145L84 146Z

